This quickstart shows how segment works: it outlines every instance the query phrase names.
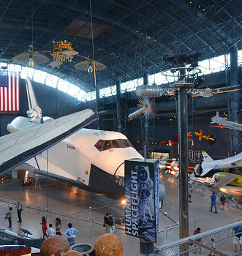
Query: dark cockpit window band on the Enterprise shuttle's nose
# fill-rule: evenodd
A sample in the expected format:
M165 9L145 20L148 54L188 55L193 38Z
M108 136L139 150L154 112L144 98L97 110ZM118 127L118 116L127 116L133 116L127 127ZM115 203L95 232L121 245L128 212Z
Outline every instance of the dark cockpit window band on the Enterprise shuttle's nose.
M129 140L123 140L123 139L117 139L117 140L99 140L95 147L99 151L105 151L110 148L128 148L132 147L132 144L129 142Z

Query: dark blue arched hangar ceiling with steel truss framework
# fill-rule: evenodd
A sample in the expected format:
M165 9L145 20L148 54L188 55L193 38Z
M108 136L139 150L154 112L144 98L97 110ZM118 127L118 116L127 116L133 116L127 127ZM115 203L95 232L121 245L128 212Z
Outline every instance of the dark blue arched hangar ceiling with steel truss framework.
M33 45L34 57L38 52L53 63L53 41L66 40L74 54L59 68L42 61L34 67L93 91L93 73L80 70L93 60L106 66L96 74L103 88L161 72L165 53L199 51L203 60L241 49L241 6L241 0L1 0L0 61L12 63Z

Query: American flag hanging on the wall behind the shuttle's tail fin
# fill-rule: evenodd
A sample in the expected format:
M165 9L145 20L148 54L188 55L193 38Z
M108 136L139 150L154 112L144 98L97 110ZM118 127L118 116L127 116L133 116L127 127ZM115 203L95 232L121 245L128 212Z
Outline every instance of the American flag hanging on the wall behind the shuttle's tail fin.
M0 111L20 110L20 72L0 72Z

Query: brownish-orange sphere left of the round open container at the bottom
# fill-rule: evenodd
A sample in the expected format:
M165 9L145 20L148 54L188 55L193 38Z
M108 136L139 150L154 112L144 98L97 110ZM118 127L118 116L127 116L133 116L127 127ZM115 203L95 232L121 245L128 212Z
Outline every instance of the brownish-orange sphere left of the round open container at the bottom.
M59 235L53 235L43 241L40 247L41 256L62 256L69 249L67 238Z

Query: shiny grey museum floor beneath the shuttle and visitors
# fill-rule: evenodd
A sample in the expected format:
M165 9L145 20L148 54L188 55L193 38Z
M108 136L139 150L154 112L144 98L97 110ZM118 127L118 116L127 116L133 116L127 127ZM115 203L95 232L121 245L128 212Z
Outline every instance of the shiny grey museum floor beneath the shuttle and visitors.
M178 221L178 181L168 176L162 176L167 196L163 212L175 222ZM31 208L23 207L22 223L18 223L17 211L13 207L12 228L10 230L22 234L20 227L29 230L33 238L39 238L42 235L42 227L39 225L41 217L46 216L45 208L49 208L52 213L48 213L48 224L53 223L56 217L61 218L61 232L67 229L67 224L72 222L73 227L79 230L76 234L76 243L88 243L94 245L99 236L105 233L105 227L102 227L103 217L106 212L113 212L116 218L124 219L124 206L120 202L111 200L93 193L86 192L69 184L61 183L53 179L40 178L41 189L30 189L29 187L20 187L20 181L16 179L2 181L0 184L0 197L3 200L20 200L23 206L29 205ZM191 236L196 227L200 227L202 232L216 227L237 222L241 219L241 210L225 206L225 211L220 210L217 203L218 214L210 212L211 200L209 195L203 195L202 192L193 189L192 203L189 203L189 235ZM4 216L8 210L8 204L0 201L0 227L7 229L8 222L4 221ZM75 214L73 214L75 212ZM178 240L178 227L167 230L174 225L174 222L164 214L159 216L158 243L155 245L166 244L170 241ZM140 255L139 239L127 236L124 233L124 227L116 225L114 232L121 238L124 245L124 256ZM234 245L232 238L216 243L216 249L228 255L234 254ZM209 252L202 250L201 255L208 255ZM191 254L192 255L192 254Z

